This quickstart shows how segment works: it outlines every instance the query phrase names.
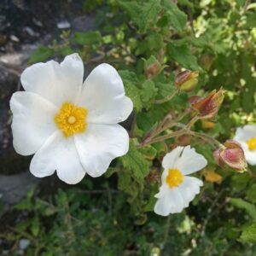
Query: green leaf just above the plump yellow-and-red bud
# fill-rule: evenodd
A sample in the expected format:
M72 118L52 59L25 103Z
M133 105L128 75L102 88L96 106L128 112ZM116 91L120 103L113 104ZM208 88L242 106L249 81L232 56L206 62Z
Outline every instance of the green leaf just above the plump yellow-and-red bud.
M182 67L191 70L201 69L195 56L191 54L191 51L187 45L168 44L167 51L170 58L173 61L177 61L177 63L179 63Z

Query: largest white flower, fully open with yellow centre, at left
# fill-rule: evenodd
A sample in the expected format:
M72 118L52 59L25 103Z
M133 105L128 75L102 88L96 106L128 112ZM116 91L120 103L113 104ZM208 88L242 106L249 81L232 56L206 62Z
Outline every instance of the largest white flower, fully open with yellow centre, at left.
M27 67L21 74L26 91L15 92L14 147L22 155L35 154L30 171L45 177L56 170L66 183L79 183L87 172L99 177L110 162L127 153L129 136L118 125L133 105L117 71L96 67L85 79L79 55Z

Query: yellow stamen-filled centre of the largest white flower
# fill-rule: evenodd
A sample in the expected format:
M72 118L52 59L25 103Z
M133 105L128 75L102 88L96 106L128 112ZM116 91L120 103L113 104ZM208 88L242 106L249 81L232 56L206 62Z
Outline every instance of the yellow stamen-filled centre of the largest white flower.
M59 113L55 115L55 124L63 132L65 137L86 129L86 118L88 110L75 106L73 103L62 104Z

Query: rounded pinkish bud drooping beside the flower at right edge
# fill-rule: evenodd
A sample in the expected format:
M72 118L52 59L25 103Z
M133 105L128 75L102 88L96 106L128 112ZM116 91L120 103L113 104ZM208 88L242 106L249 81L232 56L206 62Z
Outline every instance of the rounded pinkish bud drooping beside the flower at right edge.
M233 140L224 143L224 148L218 148L213 152L213 157L218 166L230 167L238 172L244 172L247 161L241 145Z

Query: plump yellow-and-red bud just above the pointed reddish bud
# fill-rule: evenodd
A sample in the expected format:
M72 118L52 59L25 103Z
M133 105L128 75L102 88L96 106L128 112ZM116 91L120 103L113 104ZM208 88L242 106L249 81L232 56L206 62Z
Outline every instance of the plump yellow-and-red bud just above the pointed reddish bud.
M175 85L179 90L191 91L194 90L198 83L198 71L185 70L182 73L178 73L175 79Z

